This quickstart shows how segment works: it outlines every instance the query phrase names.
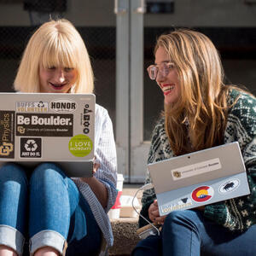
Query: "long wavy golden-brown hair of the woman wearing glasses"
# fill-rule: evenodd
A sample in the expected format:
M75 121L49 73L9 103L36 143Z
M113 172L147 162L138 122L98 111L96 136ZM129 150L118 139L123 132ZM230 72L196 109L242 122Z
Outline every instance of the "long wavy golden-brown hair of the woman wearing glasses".
M158 38L177 68L179 100L165 106L166 134L174 154L223 144L228 95L223 67L212 41L201 32L177 29Z

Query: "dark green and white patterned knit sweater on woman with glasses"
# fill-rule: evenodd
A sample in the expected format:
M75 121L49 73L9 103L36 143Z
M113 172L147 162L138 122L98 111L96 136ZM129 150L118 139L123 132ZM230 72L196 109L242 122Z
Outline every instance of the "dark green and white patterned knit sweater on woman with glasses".
M233 103L240 92L232 90L230 102ZM250 195L237 197L205 206L204 216L223 225L229 230L247 230L256 224L256 99L241 93L236 104L230 108L227 126L224 131L224 143L238 142L247 169ZM166 160L175 156L165 131L165 119L155 126L148 154L148 163ZM151 183L147 172L146 183ZM154 189L143 192L141 214L148 218L148 207L155 199ZM139 226L147 224L139 219Z

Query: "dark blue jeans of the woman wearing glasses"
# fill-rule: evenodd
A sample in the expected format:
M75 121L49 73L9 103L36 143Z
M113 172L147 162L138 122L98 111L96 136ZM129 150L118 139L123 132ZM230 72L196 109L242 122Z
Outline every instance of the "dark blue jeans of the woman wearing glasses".
M166 217L160 236L139 241L133 256L253 256L256 225L244 233L231 232L203 217L203 212L174 211Z

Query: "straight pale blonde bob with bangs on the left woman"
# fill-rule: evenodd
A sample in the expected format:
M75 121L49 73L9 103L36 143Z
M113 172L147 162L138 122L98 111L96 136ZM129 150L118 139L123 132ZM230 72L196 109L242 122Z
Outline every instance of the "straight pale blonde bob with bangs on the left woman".
M40 92L39 66L73 67L78 78L73 92L91 93L94 77L90 57L79 32L68 20L50 20L30 38L15 78L15 90Z

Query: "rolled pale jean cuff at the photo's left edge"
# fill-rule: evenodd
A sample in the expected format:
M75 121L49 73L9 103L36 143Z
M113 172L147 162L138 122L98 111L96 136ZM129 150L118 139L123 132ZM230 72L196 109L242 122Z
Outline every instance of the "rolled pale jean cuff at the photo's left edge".
M0 224L0 244L15 250L18 255L22 255L25 237L19 230Z

